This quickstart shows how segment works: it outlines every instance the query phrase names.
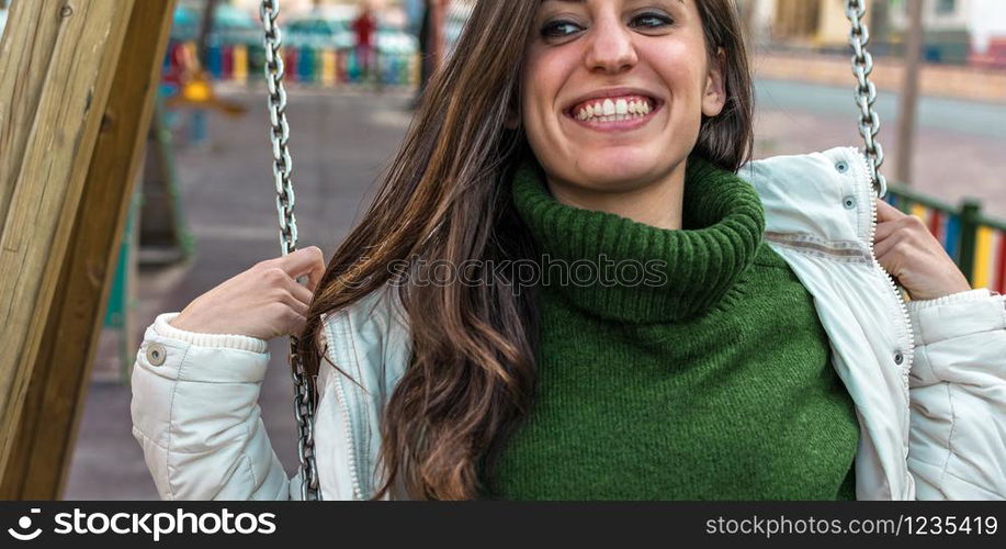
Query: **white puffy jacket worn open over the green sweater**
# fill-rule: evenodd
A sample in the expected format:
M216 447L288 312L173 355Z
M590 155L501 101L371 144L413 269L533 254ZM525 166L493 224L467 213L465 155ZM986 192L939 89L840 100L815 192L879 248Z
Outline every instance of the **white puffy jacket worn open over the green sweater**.
M860 500L1006 497L1006 302L986 289L904 303L873 258L875 204L854 148L753 163L766 239L813 294L833 365L856 403ZM325 321L315 434L326 500L370 497L378 417L409 357L389 292ZM299 496L257 404L265 343L173 328L161 315L133 373L133 433L170 500ZM400 486L392 493L403 497Z

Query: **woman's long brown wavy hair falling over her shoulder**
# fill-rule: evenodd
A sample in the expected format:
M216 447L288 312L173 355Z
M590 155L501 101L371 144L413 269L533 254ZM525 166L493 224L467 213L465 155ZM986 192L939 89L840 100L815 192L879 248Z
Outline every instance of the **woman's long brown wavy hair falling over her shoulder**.
M519 112L523 57L541 0L478 0L454 54L430 81L405 142L363 221L339 247L302 334L316 341L321 316L385 287L391 265L451 266L531 257L504 184L525 154ZM726 56L727 108L704 120L696 153L736 170L748 157L751 83L733 0L697 2L707 48ZM400 274L400 273L399 273ZM382 418L383 497L400 481L417 500L471 500L491 478L535 383L534 294L510 274L478 284L394 284L411 341L409 363ZM303 345L317 372L324 349ZM337 368L339 365L335 365ZM341 370L340 370L341 371ZM483 469L484 467L484 469Z

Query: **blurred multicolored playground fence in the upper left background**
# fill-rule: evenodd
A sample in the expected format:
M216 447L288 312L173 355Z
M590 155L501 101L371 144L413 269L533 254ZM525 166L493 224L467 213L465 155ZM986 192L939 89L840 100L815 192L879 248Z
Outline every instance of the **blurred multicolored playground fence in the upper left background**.
M179 55L177 48L186 48L186 55ZM195 58L195 44L176 42L169 45L165 56L166 70L170 74L178 59ZM206 52L206 70L216 81L248 83L259 78L264 64L261 46L244 44L210 45ZM381 53L374 55L372 71L364 74L364 64L355 48L326 46L285 46L283 61L286 79L301 85L326 88L363 83L368 79L388 87L412 87L419 81L419 54ZM375 78L375 76L377 78Z

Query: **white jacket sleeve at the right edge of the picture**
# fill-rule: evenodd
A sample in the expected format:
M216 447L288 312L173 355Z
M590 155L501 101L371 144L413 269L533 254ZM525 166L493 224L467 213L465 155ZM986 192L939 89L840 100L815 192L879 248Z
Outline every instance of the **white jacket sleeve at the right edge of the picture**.
M971 290L909 302L908 312L916 497L1006 498L1006 298Z

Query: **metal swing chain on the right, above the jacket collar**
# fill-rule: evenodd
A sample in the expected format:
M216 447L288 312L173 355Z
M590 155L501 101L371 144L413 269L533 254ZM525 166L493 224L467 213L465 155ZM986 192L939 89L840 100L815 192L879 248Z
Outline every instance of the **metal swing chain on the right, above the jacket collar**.
M867 51L870 43L870 30L863 22L867 13L864 0L846 0L846 18L852 24L849 32L849 44L852 45L852 74L856 75L856 104L859 105L859 134L866 142L866 157L869 164L873 183L877 186L877 195L883 198L888 193L888 179L880 172L884 164L884 149L877 141L880 132L880 116L874 110L877 103L877 86L870 81L873 72L873 56Z

